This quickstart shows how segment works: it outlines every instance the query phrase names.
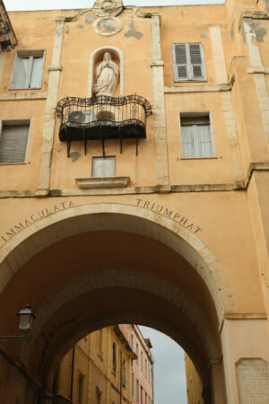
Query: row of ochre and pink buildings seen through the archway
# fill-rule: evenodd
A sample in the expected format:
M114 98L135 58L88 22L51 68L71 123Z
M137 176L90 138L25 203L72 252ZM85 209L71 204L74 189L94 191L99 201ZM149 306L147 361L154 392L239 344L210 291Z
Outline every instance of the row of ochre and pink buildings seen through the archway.
M99 329L82 338L59 364L54 403L153 403L150 339L133 324Z

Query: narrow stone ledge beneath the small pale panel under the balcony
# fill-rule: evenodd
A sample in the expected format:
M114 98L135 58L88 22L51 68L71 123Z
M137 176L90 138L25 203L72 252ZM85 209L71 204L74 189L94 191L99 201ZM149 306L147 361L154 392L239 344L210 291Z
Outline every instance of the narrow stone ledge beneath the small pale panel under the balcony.
M130 177L92 177L76 178L75 182L81 189L125 188Z

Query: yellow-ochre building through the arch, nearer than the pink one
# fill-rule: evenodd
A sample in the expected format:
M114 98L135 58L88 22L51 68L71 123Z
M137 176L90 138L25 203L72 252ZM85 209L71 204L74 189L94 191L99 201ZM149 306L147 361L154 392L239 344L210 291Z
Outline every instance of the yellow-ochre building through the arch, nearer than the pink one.
M133 402L136 355L125 336L129 327L133 326L123 324L99 329L74 345L56 370L55 404Z

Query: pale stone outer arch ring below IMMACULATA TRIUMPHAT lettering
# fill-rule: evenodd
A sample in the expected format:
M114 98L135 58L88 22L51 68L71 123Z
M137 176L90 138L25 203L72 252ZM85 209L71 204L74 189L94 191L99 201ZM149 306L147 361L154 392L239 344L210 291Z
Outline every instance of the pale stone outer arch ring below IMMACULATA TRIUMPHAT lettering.
M14 273L39 251L75 234L101 230L141 234L167 245L187 259L202 277L213 298L220 324L225 312L235 312L225 272L197 234L143 207L113 203L70 207L15 234L0 249L0 293Z

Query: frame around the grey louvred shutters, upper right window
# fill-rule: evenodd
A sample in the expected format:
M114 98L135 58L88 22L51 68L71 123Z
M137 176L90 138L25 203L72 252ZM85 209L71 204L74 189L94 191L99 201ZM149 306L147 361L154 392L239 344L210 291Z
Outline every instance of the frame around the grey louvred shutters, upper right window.
M178 64L176 60L176 45L185 45L186 56L187 56L187 77L179 77L178 76ZM199 45L200 47L200 55L201 55L201 68L202 68L202 76L201 77L193 77L191 73L191 62L190 62L190 50L189 45ZM174 82L206 82L206 68L205 68L205 59L204 59L204 47L202 42L178 42L172 44L172 58L173 58L173 71L174 71Z

